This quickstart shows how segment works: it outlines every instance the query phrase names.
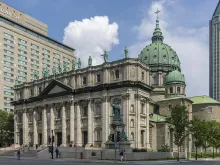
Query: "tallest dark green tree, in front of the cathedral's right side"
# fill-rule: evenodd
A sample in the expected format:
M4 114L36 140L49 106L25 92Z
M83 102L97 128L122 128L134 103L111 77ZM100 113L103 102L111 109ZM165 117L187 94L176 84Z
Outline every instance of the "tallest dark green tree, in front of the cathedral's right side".
M187 128L189 126L188 111L185 105L175 105L171 109L171 116L167 118L171 124L170 129L174 134L174 144L178 148L177 161L179 161L180 147L183 145L185 138L188 136Z

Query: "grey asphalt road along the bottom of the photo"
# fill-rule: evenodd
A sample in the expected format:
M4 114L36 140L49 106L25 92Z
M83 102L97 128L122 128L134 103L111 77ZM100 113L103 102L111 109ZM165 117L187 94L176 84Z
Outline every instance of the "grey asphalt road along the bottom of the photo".
M17 160L14 157L4 158L0 157L1 165L112 165L113 161L76 161L76 160L40 160L36 158L23 158ZM128 164L128 165L220 165L219 161L136 161L136 162L116 162L116 164Z

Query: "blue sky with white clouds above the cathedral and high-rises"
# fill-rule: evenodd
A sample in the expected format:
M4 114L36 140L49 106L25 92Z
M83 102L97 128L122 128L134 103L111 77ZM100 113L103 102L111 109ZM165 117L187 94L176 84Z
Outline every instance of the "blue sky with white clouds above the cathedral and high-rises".
M83 66L138 57L151 43L159 9L164 43L181 62L187 96L209 94L209 20L218 0L2 0L46 23L49 37L76 49ZM202 3L201 3L202 2Z

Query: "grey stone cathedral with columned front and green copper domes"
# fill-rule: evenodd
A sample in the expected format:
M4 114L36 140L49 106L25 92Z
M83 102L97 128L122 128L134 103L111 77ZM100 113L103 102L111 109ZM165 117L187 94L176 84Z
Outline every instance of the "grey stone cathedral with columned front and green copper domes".
M47 146L53 132L56 146L103 147L115 103L131 147L138 149L175 148L166 123L173 105L186 105L189 120L219 120L220 102L208 96L186 97L178 55L163 40L157 19L152 43L137 58L129 58L126 48L123 59L109 62L105 52L101 65L92 66L90 57L86 68L79 61L70 71L58 68L57 73L17 84L12 102L15 145Z

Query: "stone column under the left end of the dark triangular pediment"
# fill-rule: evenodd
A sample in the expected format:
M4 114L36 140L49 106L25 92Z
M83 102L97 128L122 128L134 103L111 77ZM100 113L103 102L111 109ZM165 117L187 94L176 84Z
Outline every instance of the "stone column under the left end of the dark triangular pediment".
M42 144L47 146L47 109L46 106L42 110Z

